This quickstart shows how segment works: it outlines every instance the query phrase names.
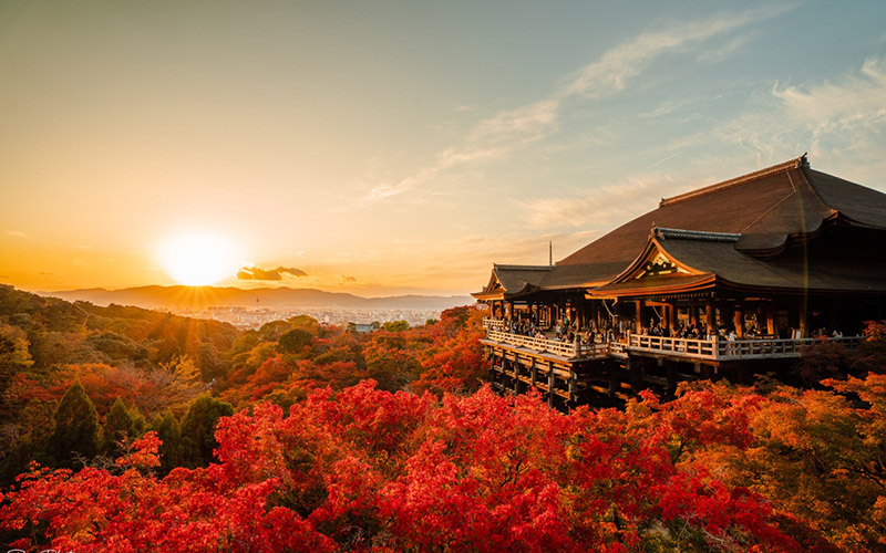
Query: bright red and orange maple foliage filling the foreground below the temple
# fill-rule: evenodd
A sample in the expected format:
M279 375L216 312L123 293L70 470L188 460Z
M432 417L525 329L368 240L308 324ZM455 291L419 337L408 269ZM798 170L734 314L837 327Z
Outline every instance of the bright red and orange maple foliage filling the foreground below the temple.
M563 415L367 380L223 418L206 468L159 478L154 434L112 469L32 467L0 522L17 546L75 551L883 546L886 378L830 384Z

